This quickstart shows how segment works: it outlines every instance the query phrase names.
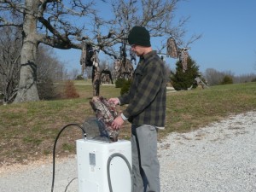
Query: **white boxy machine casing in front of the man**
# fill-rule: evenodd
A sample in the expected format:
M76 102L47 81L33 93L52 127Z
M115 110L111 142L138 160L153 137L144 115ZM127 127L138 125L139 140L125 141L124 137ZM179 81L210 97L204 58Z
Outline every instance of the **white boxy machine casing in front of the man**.
M119 140L104 143L93 139L79 139L77 144L79 192L109 192L108 158L123 154L131 166L131 142ZM131 192L131 173L125 160L113 157L109 166L113 192Z

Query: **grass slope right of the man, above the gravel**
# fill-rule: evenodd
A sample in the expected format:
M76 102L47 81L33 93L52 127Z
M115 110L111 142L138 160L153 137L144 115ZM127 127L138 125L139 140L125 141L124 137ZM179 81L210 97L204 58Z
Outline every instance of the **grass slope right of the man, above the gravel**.
M169 93L165 136L172 131L192 131L230 114L256 109L256 84L228 84Z

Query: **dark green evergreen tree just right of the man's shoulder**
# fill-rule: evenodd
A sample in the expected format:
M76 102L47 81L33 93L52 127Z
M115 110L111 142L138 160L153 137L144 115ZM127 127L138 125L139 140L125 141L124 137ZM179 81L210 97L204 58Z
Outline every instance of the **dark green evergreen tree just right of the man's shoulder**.
M181 61L176 62L176 73L171 74L172 86L175 90L188 90L193 85L193 88L197 87L195 78L200 77L199 67L195 61L188 57L187 70L183 72L183 65Z

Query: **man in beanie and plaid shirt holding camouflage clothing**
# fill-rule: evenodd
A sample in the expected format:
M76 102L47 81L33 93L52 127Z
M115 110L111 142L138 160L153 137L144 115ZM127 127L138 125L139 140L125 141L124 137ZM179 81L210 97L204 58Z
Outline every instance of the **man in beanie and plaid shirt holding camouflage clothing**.
M131 49L140 57L130 91L108 102L127 108L112 127L131 122L133 192L160 192L160 165L157 158L157 131L166 121L166 73L163 61L151 48L149 32L134 26L128 36Z

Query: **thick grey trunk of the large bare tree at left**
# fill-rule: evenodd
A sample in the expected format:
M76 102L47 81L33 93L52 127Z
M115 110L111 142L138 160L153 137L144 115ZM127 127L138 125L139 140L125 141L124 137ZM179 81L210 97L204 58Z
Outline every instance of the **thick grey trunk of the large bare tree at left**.
M38 1L26 0L24 14L22 48L20 53L20 82L15 102L38 101L37 88L37 65L35 63L38 40L37 40L37 18L34 11L37 11Z

